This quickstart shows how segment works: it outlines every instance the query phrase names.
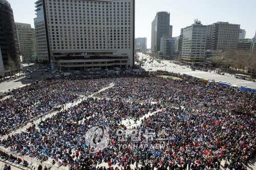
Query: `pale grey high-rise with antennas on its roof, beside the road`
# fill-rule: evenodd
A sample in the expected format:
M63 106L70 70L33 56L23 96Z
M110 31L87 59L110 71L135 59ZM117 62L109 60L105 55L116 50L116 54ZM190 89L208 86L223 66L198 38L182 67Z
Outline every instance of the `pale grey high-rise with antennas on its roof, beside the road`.
M183 29L181 62L200 65L204 62L207 26L196 20Z

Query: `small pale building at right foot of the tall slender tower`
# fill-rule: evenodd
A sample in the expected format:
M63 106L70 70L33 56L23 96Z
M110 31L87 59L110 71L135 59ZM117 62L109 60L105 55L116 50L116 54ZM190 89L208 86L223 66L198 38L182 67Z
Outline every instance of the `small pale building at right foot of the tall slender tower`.
M174 59L175 38L164 36L160 42L160 57L165 60Z

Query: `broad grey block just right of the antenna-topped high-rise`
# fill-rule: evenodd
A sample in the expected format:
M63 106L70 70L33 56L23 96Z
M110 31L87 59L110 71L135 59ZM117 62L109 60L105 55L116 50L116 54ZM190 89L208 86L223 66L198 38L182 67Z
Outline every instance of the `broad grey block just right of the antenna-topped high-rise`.
M236 50L240 25L228 22L216 22L212 25L210 50L225 51Z

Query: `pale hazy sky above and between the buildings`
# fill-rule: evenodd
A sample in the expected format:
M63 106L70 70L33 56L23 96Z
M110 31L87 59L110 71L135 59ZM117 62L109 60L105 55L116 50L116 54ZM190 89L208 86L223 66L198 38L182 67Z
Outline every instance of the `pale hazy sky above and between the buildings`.
M31 23L34 27L36 0L8 0L12 6L15 22ZM151 22L156 12L170 12L173 36L180 29L191 25L198 18L204 25L217 21L240 24L246 37L252 38L256 30L255 0L135 0L135 37L146 37L151 46Z

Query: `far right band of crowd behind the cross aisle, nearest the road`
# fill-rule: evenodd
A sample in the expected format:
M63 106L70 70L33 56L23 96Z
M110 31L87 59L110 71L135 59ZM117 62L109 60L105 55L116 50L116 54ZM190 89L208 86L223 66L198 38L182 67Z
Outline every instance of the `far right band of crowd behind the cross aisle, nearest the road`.
M113 79L115 87L99 96L160 102L190 108L240 109L251 112L255 107L255 95L215 84L206 84L196 79L170 80L156 76L144 78Z

